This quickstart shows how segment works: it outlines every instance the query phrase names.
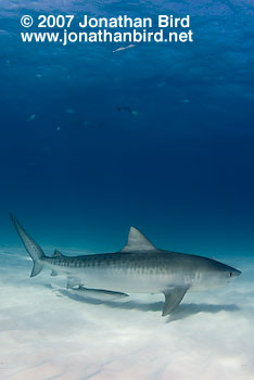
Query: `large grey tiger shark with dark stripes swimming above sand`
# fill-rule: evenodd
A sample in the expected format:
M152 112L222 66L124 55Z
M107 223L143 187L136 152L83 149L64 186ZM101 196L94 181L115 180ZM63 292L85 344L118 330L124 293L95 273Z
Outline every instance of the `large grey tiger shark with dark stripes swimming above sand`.
M11 218L34 261L30 277L48 267L53 276L74 277L77 284L93 288L92 291L164 293L163 316L177 307L187 291L217 289L241 275L240 270L214 259L160 250L134 227L119 252L71 257L55 251L49 257L17 219L12 215Z

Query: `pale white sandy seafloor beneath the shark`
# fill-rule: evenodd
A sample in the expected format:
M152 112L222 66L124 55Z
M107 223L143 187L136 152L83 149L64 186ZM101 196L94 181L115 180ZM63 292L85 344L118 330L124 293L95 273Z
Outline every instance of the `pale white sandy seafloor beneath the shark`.
M215 258L243 274L220 290L187 294L162 318L162 295L73 300L51 287L64 287L63 276L45 269L29 278L24 250L1 248L0 378L254 379L254 262Z

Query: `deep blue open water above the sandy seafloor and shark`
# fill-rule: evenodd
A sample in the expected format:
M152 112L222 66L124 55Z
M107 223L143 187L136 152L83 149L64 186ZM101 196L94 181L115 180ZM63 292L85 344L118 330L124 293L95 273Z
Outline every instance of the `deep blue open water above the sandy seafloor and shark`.
M253 255L253 2L1 2L1 244L20 244L12 211L45 245L109 252L134 225ZM43 13L190 14L194 42L23 43L20 17Z

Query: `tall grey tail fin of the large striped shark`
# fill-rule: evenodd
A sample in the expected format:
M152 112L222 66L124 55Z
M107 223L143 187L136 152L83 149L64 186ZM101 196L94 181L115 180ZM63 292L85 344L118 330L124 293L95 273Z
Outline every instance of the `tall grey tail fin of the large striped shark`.
M46 257L43 251L41 248L29 237L29 235L24 230L24 228L21 226L21 224L17 221L17 219L10 214L10 217L14 224L14 227L17 231L17 233L21 237L21 240L23 244L25 245L26 251L29 253L29 256L34 261L34 267L30 273L30 277L35 277L39 275L39 273L43 268L43 264L40 262L42 257Z

